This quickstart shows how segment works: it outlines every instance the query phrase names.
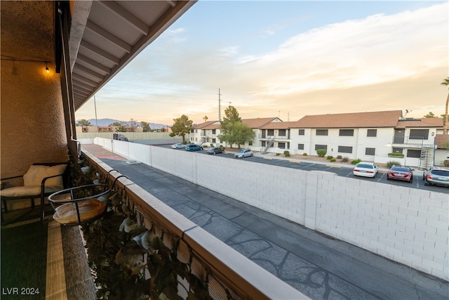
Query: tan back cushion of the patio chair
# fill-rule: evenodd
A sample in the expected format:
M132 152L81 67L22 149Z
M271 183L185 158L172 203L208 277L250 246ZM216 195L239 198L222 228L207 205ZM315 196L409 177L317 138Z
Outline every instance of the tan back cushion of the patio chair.
M41 185L42 179L48 176L54 176L62 174L65 171L67 164L58 164L56 166L29 166L27 173L23 176L23 185L25 186L36 186ZM64 188L64 183L62 181L62 176L50 178L45 182L45 185L58 186Z

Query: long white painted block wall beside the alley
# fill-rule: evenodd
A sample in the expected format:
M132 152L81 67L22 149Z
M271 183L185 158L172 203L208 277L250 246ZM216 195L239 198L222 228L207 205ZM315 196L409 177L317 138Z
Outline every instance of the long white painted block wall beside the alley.
M93 143L449 280L448 193L111 141L94 138Z

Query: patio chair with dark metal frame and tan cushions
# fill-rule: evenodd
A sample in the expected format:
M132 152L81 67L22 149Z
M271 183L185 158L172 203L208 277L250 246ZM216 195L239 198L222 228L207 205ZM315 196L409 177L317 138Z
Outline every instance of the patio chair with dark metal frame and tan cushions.
M22 177L23 184L9 187L11 179L18 180ZM31 207L34 209L34 199L41 199L40 218L43 223L45 216L45 197L67 187L69 183L68 162L51 162L32 164L24 175L1 178L1 185L5 188L0 190L1 201L4 211L1 210L1 222L4 222L3 214L8 213L8 201L30 199Z

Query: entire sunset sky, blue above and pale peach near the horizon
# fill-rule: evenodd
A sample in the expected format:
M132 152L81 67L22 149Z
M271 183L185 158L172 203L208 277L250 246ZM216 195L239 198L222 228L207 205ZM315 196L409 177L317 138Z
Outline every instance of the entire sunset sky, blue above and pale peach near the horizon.
M96 112L169 126L218 120L219 104L221 118L229 105L242 119L440 116L448 45L448 1L199 0L95 94Z

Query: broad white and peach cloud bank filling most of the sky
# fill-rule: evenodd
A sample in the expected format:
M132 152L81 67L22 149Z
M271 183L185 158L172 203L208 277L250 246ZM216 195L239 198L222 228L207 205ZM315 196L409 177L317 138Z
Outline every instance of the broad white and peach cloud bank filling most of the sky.
M128 105L138 107L128 119L166 124L182 114L196 123L204 115L217 119L218 89L222 114L232 103L243 118L280 115L293 121L321 113L406 109L413 110L411 117L440 115L448 92L440 86L448 77L448 9L447 3L437 4L330 24L295 34L262 54L244 52L235 41L208 44L201 37L200 44L192 43L194 31L177 28L164 32L116 80L167 89L144 89L154 93L144 97L149 102ZM269 30L276 32L276 26Z

